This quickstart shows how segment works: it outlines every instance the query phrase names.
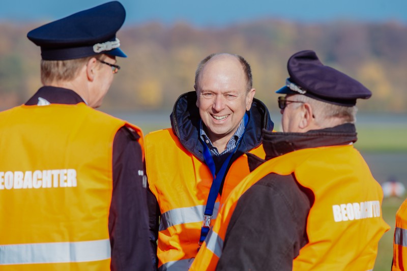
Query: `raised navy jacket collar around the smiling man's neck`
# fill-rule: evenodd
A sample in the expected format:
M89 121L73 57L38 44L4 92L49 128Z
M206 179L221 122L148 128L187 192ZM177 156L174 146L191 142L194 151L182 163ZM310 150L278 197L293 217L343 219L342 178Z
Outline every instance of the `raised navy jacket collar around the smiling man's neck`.
M273 130L274 124L270 119L269 110L261 101L253 99L248 114L249 123L242 142L232 160L259 146L261 141L263 141L263 131ZM184 93L178 98L170 119L172 131L177 135L181 144L203 162L203 147L199 140L200 116L199 110L196 107L196 93L194 91Z

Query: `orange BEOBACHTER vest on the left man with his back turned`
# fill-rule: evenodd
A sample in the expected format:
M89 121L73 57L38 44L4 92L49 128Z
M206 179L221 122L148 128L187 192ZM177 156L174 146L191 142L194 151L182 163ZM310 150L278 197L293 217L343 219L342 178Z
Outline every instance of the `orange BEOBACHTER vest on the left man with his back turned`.
M110 269L112 145L124 125L84 103L0 112L1 270Z

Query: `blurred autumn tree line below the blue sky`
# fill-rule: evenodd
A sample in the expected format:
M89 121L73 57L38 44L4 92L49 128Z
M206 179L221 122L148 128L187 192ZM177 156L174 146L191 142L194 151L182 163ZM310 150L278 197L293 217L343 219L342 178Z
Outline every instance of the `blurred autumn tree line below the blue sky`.
M24 103L41 86L40 48L26 33L41 25L0 23L0 109ZM118 34L128 58L105 98L106 110L170 110L193 91L198 62L213 52L240 54L252 67L256 97L276 110L274 91L288 77L290 55L315 50L322 62L373 93L364 111L407 112L407 26L398 22L295 23L260 20L227 27L179 22L126 25Z

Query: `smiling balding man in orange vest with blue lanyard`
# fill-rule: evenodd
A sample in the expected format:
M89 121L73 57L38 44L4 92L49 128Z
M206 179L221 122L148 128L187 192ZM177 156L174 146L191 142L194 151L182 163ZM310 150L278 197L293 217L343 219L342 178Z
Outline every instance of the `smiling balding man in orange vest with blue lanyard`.
M265 157L262 129L273 129L268 109L253 98L251 69L243 57L207 56L198 65L194 88L178 98L172 129L146 136L160 270L188 269L219 206L249 174L244 153Z

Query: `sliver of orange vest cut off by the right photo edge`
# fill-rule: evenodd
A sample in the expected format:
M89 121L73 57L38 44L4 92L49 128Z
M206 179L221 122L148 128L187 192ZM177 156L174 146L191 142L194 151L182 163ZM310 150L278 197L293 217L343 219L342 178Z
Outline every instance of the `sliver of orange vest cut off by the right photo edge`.
M407 199L396 213L392 271L407 270Z

